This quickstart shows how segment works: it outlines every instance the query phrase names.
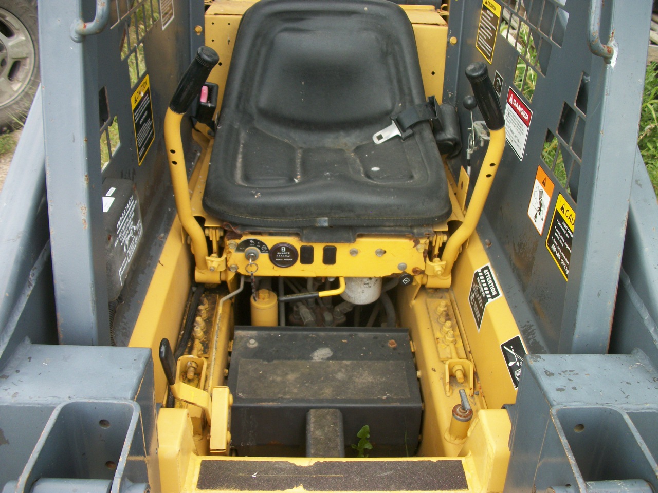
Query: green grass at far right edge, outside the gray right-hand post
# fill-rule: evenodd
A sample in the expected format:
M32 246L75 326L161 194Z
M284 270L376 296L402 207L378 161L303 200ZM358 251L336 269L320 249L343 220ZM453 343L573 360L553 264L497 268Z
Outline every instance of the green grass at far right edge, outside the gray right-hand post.
M658 194L658 76L657 62L647 65L642 96L642 114L638 129L638 147L647 166L653 190Z

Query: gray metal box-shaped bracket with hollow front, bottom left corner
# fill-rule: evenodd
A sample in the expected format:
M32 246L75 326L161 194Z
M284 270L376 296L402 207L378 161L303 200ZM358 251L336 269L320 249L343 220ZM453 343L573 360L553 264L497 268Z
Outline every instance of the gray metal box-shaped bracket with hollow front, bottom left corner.
M3 492L40 477L160 490L151 350L25 342L0 376Z

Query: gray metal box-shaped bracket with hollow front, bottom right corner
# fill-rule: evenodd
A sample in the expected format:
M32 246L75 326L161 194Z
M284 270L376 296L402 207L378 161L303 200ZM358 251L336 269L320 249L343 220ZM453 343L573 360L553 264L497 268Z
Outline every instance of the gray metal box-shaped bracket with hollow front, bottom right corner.
M658 486L658 372L642 351L535 354L525 364L505 493Z

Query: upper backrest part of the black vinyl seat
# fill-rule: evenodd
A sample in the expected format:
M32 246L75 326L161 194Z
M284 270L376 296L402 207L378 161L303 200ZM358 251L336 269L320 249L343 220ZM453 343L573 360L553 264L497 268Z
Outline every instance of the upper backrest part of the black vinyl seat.
M262 0L240 24L221 118L334 147L347 133L351 145L367 141L422 101L413 30L397 5Z

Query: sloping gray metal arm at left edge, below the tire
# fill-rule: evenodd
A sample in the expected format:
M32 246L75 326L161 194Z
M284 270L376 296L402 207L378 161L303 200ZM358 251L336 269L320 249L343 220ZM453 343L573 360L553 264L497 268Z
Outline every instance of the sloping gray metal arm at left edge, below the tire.
M0 193L0 367L20 341L57 342L41 93L36 93Z

